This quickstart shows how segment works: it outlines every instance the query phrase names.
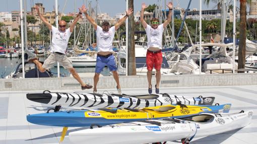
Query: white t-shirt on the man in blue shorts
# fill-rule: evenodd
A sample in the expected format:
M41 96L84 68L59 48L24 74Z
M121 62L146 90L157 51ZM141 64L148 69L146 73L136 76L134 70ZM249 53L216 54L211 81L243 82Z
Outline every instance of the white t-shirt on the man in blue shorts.
M97 51L113 51L112 42L115 35L115 26L111 27L108 32L103 31L100 26L96 28Z

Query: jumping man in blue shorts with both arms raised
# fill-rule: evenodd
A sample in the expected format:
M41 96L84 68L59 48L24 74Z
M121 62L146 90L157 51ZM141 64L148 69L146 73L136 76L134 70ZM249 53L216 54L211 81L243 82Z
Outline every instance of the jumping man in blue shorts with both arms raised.
M107 65L109 70L112 71L113 78L116 81L116 88L119 94L121 94L121 88L119 85L119 77L117 73L117 67L115 63L115 58L112 55L112 42L114 38L115 31L119 26L129 17L133 10L130 8L126 11L126 15L121 18L114 26L110 26L109 22L103 21L102 27L98 26L96 22L87 14L87 9L84 9L83 12L87 17L88 21L93 25L96 30L96 42L97 42L97 59L96 59L96 68L94 76L94 90L93 93L97 93L97 83L99 81L99 76L104 66Z

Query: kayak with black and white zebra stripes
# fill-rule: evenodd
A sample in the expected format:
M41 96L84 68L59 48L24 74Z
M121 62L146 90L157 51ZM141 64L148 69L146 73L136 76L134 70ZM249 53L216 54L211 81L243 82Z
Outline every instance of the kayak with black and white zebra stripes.
M27 99L52 106L91 108L144 108L169 104L212 105L214 97L183 97L168 94L118 95L95 93L43 93L27 94ZM58 110L56 110L58 111Z

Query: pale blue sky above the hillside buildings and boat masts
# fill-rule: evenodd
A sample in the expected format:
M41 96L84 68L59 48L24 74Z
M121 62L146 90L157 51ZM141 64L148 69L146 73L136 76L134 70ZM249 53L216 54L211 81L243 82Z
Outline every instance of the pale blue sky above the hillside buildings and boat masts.
M24 2L25 0L23 0ZM59 11L62 12L65 2L67 1L66 8L64 13L74 12L74 0L58 0ZM202 0L204 2L204 0ZM19 0L1 0L1 9L0 12L11 12L11 11L20 11L20 1ZM46 11L52 11L54 6L54 0L27 0L27 11L31 11L32 4L35 3L42 3L45 7ZM81 7L86 0L76 0L76 11L78 12L78 8ZM88 3L92 2L92 6L96 7L96 0L88 0ZM164 0L134 0L134 13L141 10L141 4L146 3L147 5L156 4L159 5L162 2L162 6L164 5ZM166 1L168 3L170 1ZM173 5L178 6L180 8L186 8L188 5L189 0L173 0ZM192 0L190 9L197 8L200 9L200 1L199 0ZM203 10L214 9L214 3L210 3L209 7L207 7L204 3L202 4ZM126 2L125 0L98 0L98 12L108 13L110 16L115 16L116 13L123 13L125 12ZM216 9L216 8L215 8Z

